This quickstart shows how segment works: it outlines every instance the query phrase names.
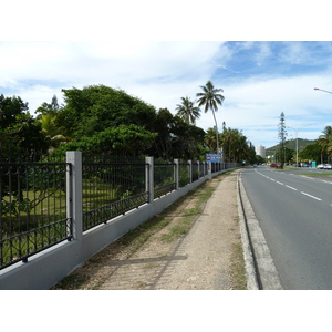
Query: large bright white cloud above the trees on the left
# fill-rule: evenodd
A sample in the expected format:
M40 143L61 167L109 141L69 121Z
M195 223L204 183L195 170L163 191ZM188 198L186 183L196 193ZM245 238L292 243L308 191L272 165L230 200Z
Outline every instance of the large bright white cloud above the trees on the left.
M105 84L170 111L215 70L220 42L1 43L0 86L33 112L61 89ZM48 92L50 95L46 96Z

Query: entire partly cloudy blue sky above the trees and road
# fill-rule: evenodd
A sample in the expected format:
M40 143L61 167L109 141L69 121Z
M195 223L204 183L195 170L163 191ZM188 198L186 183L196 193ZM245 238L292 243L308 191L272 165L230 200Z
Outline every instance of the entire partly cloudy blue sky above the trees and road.
M175 113L208 80L224 90L217 112L255 146L278 143L281 112L299 137L315 139L331 125L332 42L290 41L52 41L0 42L0 93L19 95L30 112L61 89L105 84ZM207 129L212 115L197 125ZM295 131L288 129L294 138Z

